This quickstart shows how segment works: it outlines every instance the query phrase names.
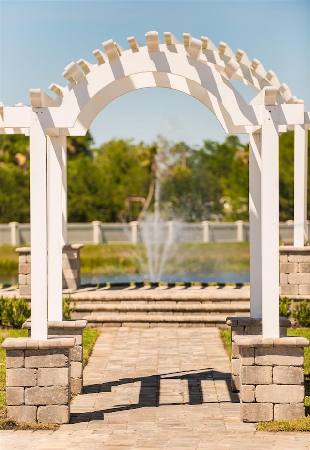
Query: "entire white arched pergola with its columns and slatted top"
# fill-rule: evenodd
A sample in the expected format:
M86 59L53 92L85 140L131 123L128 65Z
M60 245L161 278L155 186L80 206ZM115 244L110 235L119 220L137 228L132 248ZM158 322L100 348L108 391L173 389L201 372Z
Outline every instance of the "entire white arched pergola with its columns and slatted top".
M62 321L62 244L66 243L66 137L82 136L111 101L128 92L164 87L201 101L228 134L249 135L250 283L252 318L263 319L263 337L279 337L279 134L295 130L294 246L306 242L307 130L310 112L274 72L242 50L171 32L146 33L147 45L129 37L93 51L97 60L71 62L56 98L31 89L31 106L1 104L4 134L30 136L31 338L47 339L47 321ZM258 94L248 105L232 80Z

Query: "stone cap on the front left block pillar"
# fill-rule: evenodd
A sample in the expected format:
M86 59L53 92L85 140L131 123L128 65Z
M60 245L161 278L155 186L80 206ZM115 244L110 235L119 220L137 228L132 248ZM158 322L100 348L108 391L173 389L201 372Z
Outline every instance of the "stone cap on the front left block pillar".
M75 345L75 338L6 338L2 344L5 350L42 350L42 349L68 349Z

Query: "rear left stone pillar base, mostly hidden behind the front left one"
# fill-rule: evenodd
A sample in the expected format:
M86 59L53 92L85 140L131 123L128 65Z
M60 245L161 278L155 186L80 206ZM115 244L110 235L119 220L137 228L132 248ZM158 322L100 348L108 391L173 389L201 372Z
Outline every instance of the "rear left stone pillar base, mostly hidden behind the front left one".
M49 338L75 338L75 345L70 352L71 393L83 392L83 329L87 320L67 320L60 322L48 322ZM23 323L22 328L28 330L31 336L31 320Z

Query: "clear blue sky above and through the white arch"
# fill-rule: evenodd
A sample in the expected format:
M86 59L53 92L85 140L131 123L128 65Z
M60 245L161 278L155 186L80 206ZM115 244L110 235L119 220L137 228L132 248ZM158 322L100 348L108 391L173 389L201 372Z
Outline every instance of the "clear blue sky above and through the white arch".
M226 42L244 50L273 70L280 82L310 110L310 2L208 0L54 0L0 1L0 100L29 104L29 89L49 95L51 83L65 86L64 67L84 58L95 64L92 51L113 39L129 48L127 37L145 44L145 33L184 32ZM249 101L255 92L238 83ZM173 142L202 145L222 142L226 135L200 102L168 89L142 89L110 103L94 120L96 145L112 138L151 143L158 134ZM247 136L243 137L243 141Z

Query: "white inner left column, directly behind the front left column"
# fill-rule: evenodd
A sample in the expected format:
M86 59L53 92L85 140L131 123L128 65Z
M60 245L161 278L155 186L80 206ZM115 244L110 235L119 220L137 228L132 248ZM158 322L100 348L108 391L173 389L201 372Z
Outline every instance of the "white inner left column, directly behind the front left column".
M62 321L62 136L47 136L48 321Z

